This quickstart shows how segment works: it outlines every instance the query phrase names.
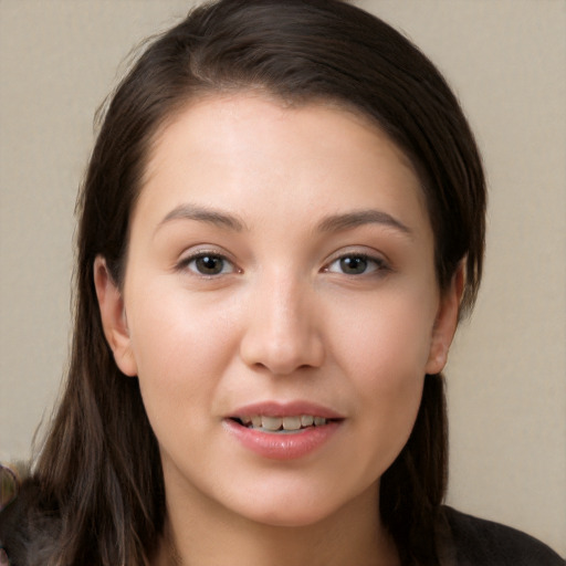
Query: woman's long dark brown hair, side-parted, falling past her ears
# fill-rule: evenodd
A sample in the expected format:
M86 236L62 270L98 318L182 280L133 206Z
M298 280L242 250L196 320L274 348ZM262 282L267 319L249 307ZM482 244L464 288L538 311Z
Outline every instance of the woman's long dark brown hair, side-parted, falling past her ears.
M93 284L102 254L124 276L130 211L156 132L195 96L261 90L290 104L355 107L417 170L444 290L465 262L463 310L482 272L485 186L454 95L430 61L379 19L339 0L221 0L155 39L115 91L77 210L72 357L62 401L34 467L61 520L61 566L138 566L165 516L156 438L138 382L120 374L104 338ZM436 562L432 527L447 483L443 380L427 376L413 432L381 478L380 513L403 563Z

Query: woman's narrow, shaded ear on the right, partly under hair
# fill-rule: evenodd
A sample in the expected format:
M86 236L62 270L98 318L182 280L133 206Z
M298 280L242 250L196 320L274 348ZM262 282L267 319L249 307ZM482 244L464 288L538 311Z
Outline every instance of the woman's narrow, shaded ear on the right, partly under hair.
M460 301L464 290L464 265L463 261L460 262L449 289L440 298L437 318L432 328L429 359L426 366L426 373L430 375L442 371L448 361L448 350L458 326Z

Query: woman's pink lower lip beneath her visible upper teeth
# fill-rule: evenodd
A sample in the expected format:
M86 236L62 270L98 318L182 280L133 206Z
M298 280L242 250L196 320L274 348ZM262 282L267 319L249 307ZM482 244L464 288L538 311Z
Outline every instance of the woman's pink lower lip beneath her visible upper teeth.
M249 429L227 419L224 424L247 449L271 460L296 460L304 458L323 444L338 430L342 421L331 421L321 427L310 427L300 432L263 432Z

